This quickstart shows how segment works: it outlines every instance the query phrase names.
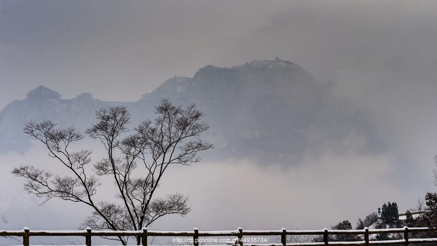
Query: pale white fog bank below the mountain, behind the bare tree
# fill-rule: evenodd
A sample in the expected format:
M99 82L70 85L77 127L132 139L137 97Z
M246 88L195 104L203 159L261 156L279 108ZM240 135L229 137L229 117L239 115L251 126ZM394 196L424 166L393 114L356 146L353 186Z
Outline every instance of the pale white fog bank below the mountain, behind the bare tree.
M362 140L351 141L359 145ZM90 146L89 141L86 144ZM361 155L356 149L359 146L341 155L327 150L319 157L308 153L292 168L234 159L172 166L158 188L158 196L185 193L190 197L192 211L185 217L164 217L149 229L329 228L344 219L354 224L358 217L387 201L396 201L400 211L405 211L415 206L418 197L423 197L426 192L423 187L433 189L429 173L410 178L409 184L427 184L415 192L397 186L392 181L396 179L393 177L398 166L396 157L389 153ZM93 145L93 150L93 160L102 157L100 147ZM86 205L59 199L40 205L44 200L22 192L23 180L7 172L20 164L35 164L65 173L61 164L45 153L42 146L35 145L25 155L1 156L5 170L0 176L1 184L9 187L0 197L1 219L8 221L3 228L74 229L89 214ZM98 188L97 197L114 199L112 181L102 180L109 182Z

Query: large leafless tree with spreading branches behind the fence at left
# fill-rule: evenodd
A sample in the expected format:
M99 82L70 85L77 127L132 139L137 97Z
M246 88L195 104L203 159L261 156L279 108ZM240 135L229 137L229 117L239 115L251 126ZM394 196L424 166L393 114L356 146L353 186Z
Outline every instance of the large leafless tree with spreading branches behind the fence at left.
M198 153L212 148L211 143L199 138L209 126L202 122L203 113L194 104L183 108L162 99L155 106L155 113L155 120L141 122L128 134L130 114L126 107L97 110L98 122L85 134L100 140L106 154L92 165L92 171L87 168L92 162L91 150L70 150L73 142L84 138L78 130L60 128L50 121L26 123L24 132L41 141L49 156L57 159L70 175L58 176L33 165L14 168L12 173L26 179L24 189L28 193L45 201L58 197L91 207L92 213L81 228L139 230L168 214L184 216L190 211L187 196L175 193L155 197L154 194L170 165L199 162ZM101 185L99 176L112 177L120 202L94 198ZM123 245L128 239L112 238ZM139 245L140 237L136 241Z

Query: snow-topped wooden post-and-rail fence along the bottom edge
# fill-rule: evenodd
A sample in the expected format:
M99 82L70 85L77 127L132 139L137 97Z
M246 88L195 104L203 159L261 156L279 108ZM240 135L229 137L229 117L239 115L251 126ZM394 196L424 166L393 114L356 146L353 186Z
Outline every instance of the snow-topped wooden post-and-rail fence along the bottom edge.
M437 228L389 228L389 229L369 229L362 230L243 230L238 228L236 230L221 230L221 231L199 231L197 228L189 231L153 231L143 228L142 230L128 230L128 231L102 231L91 230L30 230L24 228L22 230L0 230L0 236L16 236L23 237L23 246L29 246L29 238L31 236L84 236L85 246L91 246L92 236L132 236L141 237L142 246L147 246L147 238L152 237L193 237L194 246L199 246L199 237L217 237L217 236L235 236L238 244L225 246L313 246L313 245L330 245L330 246L369 246L369 245L415 245L424 243L436 243L437 238L409 238L408 233L411 232L430 232L436 231ZM370 234L381 233L403 233L401 240L386 240L386 241L370 241ZM364 241L355 242L329 242L330 235L363 235ZM287 243L287 235L320 235L323 236L323 242L320 243ZM243 236L281 236L281 243L277 244L243 244ZM214 245L219 246L219 245Z

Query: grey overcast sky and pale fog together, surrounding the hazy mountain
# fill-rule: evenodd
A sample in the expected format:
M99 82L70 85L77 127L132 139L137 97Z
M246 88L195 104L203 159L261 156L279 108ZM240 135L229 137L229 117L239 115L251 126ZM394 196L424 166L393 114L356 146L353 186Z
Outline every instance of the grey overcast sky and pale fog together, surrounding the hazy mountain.
M135 101L175 74L279 56L366 108L387 149L309 150L292 168L233 159L174 167L160 193L188 194L192 211L153 228L328 228L387 201L406 210L436 189L435 13L437 1L422 0L2 0L0 108L39 85L63 98L87 91ZM0 194L8 221L1 229L76 228L88 209L59 200L38 206L9 173L20 163L57 169L39 146L1 154L0 185L8 187Z

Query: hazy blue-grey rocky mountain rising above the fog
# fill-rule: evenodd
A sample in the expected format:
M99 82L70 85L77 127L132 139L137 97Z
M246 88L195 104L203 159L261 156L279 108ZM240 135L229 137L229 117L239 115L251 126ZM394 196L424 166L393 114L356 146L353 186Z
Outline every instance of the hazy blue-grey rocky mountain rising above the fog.
M40 86L0 111L0 149L24 151L30 146L23 134L27 121L52 120L84 130L94 122L97 108L126 105L135 124L154 117L153 105L160 98L182 105L194 102L202 109L211 126L204 137L215 144L209 153L215 158L293 161L306 151L342 151L355 138L365 140L363 150L381 148L366 112L336 96L335 87L279 58L231 68L208 65L192 78L168 79L129 103L100 101L90 93L61 99Z

